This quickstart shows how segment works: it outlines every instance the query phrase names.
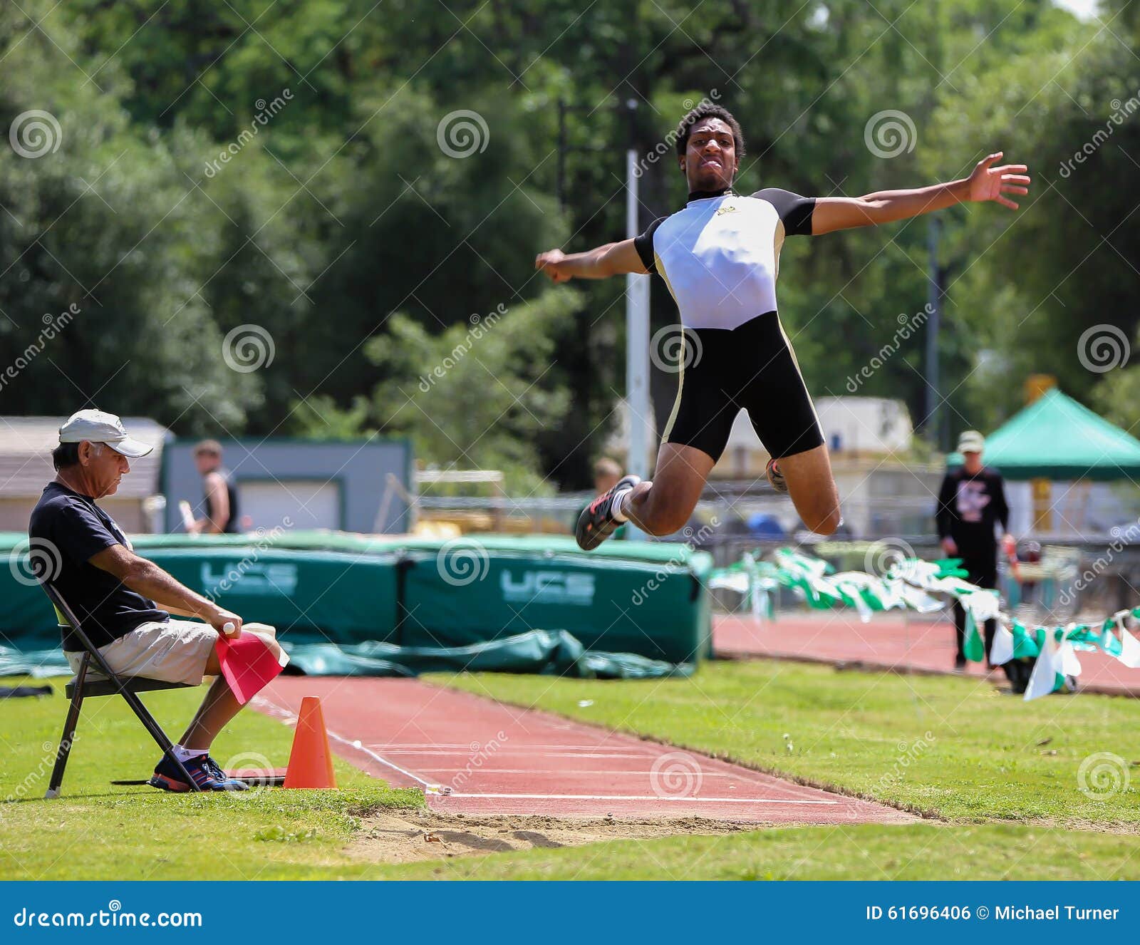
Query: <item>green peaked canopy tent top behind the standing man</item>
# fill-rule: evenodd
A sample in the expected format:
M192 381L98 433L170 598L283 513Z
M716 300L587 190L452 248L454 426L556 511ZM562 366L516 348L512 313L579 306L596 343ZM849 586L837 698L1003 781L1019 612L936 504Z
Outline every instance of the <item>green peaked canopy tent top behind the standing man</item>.
M1012 480L1138 479L1140 440L1054 388L986 437L985 463Z

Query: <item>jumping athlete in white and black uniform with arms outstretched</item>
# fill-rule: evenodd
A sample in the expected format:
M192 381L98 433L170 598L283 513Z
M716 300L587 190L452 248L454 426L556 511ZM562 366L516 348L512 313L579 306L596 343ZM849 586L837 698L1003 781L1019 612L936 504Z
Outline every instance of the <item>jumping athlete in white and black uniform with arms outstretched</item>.
M730 188L744 155L740 124L719 105L699 105L677 127L677 162L689 203L640 236L567 255L549 250L535 268L554 282L656 272L665 279L693 345L661 439L652 481L625 475L578 519L578 544L596 548L622 522L669 535L697 507L709 472L743 407L772 457L767 476L790 492L804 524L821 535L839 527L839 494L820 421L776 313L775 283L785 236L905 220L967 201L1028 194L1024 164L978 162L961 180L865 197L800 197L769 187L751 196Z

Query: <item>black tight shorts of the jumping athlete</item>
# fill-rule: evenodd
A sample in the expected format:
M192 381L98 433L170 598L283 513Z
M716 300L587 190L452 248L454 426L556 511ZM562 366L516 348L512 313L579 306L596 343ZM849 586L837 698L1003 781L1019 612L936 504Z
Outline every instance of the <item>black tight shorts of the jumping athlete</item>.
M694 447L717 461L743 407L776 459L823 443L815 407L774 311L736 328L685 328L684 364L663 442Z

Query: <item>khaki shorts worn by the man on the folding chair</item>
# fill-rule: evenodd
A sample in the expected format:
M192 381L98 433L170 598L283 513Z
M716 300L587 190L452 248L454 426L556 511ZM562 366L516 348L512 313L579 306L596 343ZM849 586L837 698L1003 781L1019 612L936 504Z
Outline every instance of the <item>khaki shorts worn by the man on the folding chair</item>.
M206 660L218 642L218 632L196 620L165 620L140 624L125 636L100 646L107 665L121 676L145 676L165 683L202 685ZM82 652L67 652L72 673L79 673ZM101 678L98 666L89 669Z

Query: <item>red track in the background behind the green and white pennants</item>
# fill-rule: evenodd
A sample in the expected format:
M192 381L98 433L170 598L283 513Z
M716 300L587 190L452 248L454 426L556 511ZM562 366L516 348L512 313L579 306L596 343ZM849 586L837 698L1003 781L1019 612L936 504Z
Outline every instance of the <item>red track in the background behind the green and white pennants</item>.
M831 610L777 614L775 621L751 617L714 618L712 647L722 657L773 657L826 663L857 663L896 673L951 673L954 625L879 614L861 624L855 611ZM1077 653L1080 689L1112 695L1140 696L1140 670L1129 669L1104 653ZM967 663L971 676L985 677L982 663ZM1001 669L992 678L1005 678Z

